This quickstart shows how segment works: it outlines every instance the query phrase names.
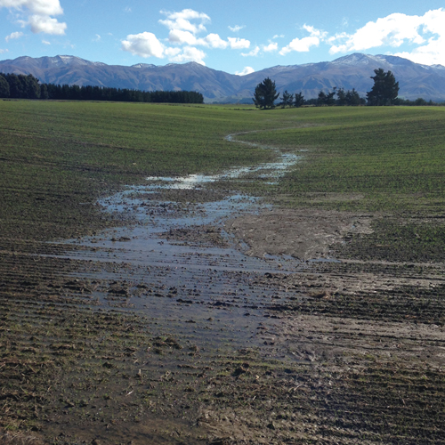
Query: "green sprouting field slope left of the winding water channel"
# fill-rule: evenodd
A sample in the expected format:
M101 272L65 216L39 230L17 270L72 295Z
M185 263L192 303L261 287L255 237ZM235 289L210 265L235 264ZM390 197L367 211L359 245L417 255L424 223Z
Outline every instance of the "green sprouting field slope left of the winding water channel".
M215 172L270 159L267 151L223 140L260 123L275 125L225 108L0 101L3 234L72 237L103 223L89 206L102 191L150 174Z

